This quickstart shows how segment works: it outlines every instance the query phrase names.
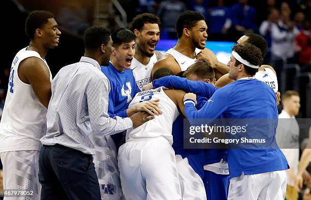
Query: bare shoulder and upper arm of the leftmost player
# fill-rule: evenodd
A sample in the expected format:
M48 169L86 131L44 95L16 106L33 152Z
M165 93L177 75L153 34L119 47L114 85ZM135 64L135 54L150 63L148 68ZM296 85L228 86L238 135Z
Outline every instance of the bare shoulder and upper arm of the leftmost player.
M50 71L46 64L37 57L29 57L20 62L18 66L19 79L30 84L39 99L46 108L52 95Z

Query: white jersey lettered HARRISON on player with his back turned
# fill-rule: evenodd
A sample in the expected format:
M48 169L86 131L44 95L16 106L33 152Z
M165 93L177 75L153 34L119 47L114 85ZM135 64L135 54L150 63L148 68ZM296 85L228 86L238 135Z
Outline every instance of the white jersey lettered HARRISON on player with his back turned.
M173 144L172 124L178 117L179 112L174 102L165 94L162 87L138 92L133 98L129 108L137 103L160 99L159 106L162 114L146 123L127 130L126 141L129 139L143 139L164 137Z

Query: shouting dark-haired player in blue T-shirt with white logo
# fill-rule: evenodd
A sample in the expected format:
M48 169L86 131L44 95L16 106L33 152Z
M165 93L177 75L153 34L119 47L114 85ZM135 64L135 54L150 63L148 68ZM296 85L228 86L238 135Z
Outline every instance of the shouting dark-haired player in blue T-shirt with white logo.
M130 69L135 54L135 35L129 29L120 28L112 33L111 38L113 42L111 61L108 66L101 67L102 72L110 83L109 116L125 118L139 111L149 112L150 115L159 115L160 109L157 107L159 100L139 103L128 109L132 98L137 92L140 92L133 72ZM119 138L122 138L122 132L115 135L119 135ZM97 150L94 156L94 163L101 186L102 199L122 198L116 151L116 146L119 147L119 141L118 137L113 139L116 145L110 136L105 136L105 138L95 135L91 136L91 140ZM109 146L108 149L106 148L107 146Z

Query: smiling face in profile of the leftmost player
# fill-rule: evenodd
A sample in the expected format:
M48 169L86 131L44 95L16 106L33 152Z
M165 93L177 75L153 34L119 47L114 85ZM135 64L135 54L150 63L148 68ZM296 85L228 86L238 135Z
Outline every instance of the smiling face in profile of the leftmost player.
M54 18L49 18L48 22L44 24L41 31L41 40L47 48L55 48L58 46L61 32L57 28L57 23Z

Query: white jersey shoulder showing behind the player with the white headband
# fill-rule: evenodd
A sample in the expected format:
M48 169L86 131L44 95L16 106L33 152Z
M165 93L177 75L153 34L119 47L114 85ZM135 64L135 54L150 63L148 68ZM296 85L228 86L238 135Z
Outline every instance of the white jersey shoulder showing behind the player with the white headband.
M255 78L259 81L266 83L276 93L278 90L277 78L273 71L269 68L264 68L265 71L258 71Z

